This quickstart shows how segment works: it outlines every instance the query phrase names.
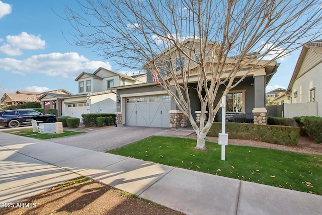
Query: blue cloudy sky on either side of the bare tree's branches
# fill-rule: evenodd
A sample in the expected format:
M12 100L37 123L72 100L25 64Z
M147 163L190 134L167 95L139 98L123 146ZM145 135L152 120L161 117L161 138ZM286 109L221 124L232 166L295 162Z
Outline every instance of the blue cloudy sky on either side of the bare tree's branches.
M65 5L79 8L76 1L0 0L0 89L44 92L65 89L77 93L75 78L98 67L127 73L126 69L104 60L94 49L70 45L70 24L64 17ZM56 13L56 14L55 14ZM279 60L281 63L267 87L287 88L300 50ZM129 73L131 75L131 73ZM1 90L0 90L1 91Z

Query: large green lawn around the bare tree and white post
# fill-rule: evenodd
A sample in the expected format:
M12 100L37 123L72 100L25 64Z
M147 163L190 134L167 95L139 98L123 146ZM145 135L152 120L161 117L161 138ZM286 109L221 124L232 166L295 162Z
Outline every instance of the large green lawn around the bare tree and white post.
M193 139L151 136L108 153L322 195L321 155L228 145L221 161L220 145L207 142L207 151L195 146Z

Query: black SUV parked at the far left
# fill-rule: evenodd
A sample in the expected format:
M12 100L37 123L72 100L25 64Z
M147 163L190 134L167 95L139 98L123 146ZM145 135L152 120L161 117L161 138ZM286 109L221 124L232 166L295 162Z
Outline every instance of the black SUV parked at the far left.
M43 114L31 109L0 111L0 125L5 127L16 128L20 125L31 125L31 120L45 123L56 122L57 118L53 114Z

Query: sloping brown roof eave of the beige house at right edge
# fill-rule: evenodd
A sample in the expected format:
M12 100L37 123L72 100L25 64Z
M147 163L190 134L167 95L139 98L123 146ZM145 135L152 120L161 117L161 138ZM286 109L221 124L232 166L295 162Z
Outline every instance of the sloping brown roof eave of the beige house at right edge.
M289 83L289 85L287 87L287 92L292 90L294 82L298 78L299 72L300 72L301 67L302 67L302 63L303 63L303 61L304 61L304 59L306 57L306 54L309 51L310 47L318 47L318 48L321 48L321 50L322 50L322 40L316 40L316 41L308 42L303 46L303 48L301 50L301 53L300 53L300 56L297 59L297 62L296 62L296 65L295 65L295 68L294 68L294 71L293 71L292 78L291 78L290 83ZM315 64L311 65L311 66L314 67L316 64L318 64L320 62L322 62L322 58L320 58L318 62L315 62Z

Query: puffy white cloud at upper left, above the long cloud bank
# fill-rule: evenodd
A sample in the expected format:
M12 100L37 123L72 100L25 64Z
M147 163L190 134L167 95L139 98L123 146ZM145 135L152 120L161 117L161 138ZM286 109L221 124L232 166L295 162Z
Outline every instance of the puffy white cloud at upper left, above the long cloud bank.
M21 32L16 36L8 35L6 38L7 43L0 47L0 52L9 56L22 55L21 49L44 49L46 45L45 40L40 39L40 35L35 36L26 32Z

